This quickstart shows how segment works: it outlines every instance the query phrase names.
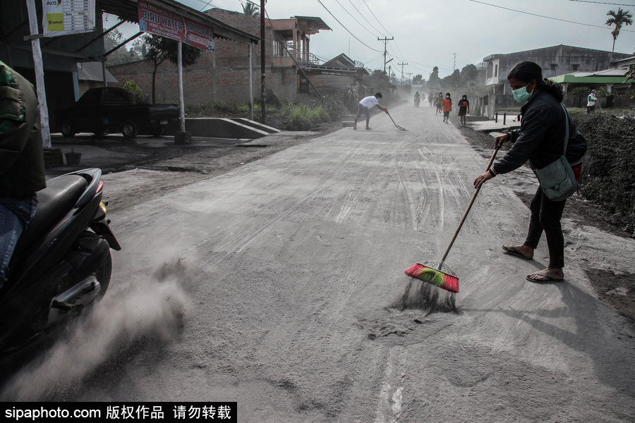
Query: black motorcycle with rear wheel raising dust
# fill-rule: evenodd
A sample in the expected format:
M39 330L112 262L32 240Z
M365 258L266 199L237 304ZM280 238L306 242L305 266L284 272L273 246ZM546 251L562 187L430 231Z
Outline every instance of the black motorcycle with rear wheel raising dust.
M47 180L0 289L0 357L47 335L103 298L121 250L106 219L102 171Z

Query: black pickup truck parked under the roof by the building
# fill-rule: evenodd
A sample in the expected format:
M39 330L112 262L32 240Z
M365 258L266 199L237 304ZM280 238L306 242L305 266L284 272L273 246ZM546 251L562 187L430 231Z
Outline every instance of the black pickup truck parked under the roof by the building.
M122 133L126 138L139 134L162 134L165 125L179 120L176 104L142 104L123 88L92 88L73 106L55 114L55 121L65 137L79 132L96 135Z

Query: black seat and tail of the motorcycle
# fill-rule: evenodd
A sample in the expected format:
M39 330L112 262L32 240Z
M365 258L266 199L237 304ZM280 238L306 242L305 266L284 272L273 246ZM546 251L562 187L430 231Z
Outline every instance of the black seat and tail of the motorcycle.
M79 200L88 181L78 175L64 175L47 180L47 188L37 192L37 210L26 231L20 235L14 255L65 216Z

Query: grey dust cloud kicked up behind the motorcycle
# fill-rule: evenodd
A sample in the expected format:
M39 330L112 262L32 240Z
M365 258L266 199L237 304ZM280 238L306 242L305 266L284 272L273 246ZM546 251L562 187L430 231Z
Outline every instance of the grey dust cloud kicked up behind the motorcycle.
M155 274L134 282L112 280L104 299L69 324L37 362L20 369L4 386L0 400L63 396L140 339L168 343L178 334L188 308L191 279L191 269L180 258L159 264Z

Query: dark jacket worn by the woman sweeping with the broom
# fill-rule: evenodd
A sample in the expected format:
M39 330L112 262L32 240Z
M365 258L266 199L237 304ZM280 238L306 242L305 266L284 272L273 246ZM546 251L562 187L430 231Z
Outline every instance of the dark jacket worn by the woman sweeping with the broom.
M492 166L492 173L514 171L531 160L536 168L543 168L560 159L564 151L565 121L564 110L560 103L548 92L538 90L521 107L521 128L509 133L514 143L509 152ZM577 136L576 124L569 116L569 142L567 160L576 166L586 152L586 141Z

